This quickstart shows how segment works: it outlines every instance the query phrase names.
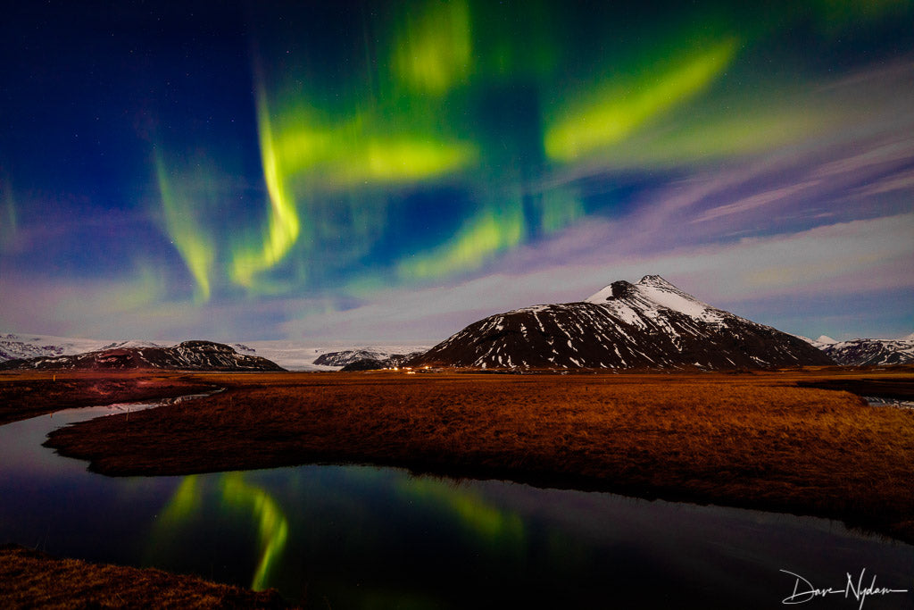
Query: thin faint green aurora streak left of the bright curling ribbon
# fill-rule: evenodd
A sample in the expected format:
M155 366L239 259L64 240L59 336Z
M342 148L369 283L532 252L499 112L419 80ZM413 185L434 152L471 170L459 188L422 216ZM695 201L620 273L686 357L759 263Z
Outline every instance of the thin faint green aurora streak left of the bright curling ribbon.
M165 216L165 231L197 283L195 300L197 303L205 302L209 299L209 278L215 259L213 242L203 226L193 217L193 199L175 191L158 150L155 151L154 157L155 176Z

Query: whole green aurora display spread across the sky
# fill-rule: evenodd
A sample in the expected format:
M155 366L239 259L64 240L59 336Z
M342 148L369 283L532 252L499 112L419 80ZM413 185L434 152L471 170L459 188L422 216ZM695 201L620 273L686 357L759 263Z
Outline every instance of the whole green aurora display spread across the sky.
M695 164L816 133L831 109L734 97L741 54L803 20L839 37L909 5L678 7L682 18L628 32L609 7L587 20L545 1L427 0L341 17L348 37L332 45L322 24L293 16L255 54L265 206L218 241L206 204L156 154L165 231L197 302L231 286L357 292L366 275L473 272L592 211L555 177Z

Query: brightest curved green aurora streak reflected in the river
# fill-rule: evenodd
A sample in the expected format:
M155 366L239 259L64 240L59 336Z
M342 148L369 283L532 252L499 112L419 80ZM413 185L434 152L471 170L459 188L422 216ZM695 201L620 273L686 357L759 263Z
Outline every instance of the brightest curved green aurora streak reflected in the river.
M240 473L228 473L221 478L222 499L230 506L250 509L258 520L260 536L260 562L254 572L250 588L262 591L270 580L270 574L282 555L289 536L289 523L282 509L271 496L244 482Z

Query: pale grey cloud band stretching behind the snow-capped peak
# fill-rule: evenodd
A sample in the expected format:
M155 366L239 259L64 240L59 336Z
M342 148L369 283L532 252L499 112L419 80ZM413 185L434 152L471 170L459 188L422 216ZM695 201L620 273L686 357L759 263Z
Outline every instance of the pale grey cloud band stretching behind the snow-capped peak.
M604 229L611 230L611 225ZM436 341L482 316L537 303L583 300L611 281L636 282L647 273L660 273L714 305L914 289L909 273L912 234L914 214L905 214L655 256L593 252L579 261L505 270L452 286L389 290L365 305L307 316L283 328L309 337Z

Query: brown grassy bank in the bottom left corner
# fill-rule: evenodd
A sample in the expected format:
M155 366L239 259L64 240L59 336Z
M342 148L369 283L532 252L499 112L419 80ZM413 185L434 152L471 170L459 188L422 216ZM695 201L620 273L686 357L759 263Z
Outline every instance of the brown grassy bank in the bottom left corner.
M255 593L154 569L57 559L0 546L4 608L282 608L275 590Z

